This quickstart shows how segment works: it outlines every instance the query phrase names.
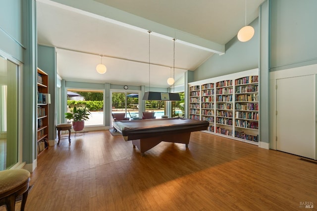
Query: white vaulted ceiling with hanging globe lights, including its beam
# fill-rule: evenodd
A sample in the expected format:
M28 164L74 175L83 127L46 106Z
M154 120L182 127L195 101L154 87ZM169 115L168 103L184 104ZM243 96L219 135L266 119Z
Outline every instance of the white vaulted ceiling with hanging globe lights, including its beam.
M247 2L247 24L263 1ZM224 52L245 25L245 0L37 0L37 24L38 43L56 48L65 80L166 88L172 38L177 81ZM105 74L96 71L99 55Z

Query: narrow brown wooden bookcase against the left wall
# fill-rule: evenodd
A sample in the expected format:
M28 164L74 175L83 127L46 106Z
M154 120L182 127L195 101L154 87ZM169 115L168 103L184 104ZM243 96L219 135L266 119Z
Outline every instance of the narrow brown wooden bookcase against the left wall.
M37 154L38 156L48 149L49 135L49 79L40 68L37 68Z

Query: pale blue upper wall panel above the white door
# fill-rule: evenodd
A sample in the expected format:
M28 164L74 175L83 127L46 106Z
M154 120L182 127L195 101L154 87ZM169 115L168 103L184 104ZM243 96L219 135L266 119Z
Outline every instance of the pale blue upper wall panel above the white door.
M317 63L317 0L270 0L270 71Z

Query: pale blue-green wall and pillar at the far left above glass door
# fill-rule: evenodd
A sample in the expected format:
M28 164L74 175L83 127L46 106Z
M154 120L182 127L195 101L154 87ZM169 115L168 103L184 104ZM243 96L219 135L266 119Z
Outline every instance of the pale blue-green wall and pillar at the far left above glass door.
M0 53L23 64L22 83L22 162L32 171L36 159L36 67L37 33L35 0L0 0Z

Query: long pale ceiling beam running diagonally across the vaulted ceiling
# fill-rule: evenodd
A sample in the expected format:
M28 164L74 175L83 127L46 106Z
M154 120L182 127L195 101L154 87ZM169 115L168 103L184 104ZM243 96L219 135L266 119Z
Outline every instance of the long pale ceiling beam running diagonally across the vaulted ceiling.
M189 45L212 53L223 54L224 45L220 45L198 36L159 24L146 18L133 15L123 10L100 3L97 0L37 0L51 4L69 11L81 13L100 20L115 23L124 27L147 33L149 30L154 36L171 40L176 38L177 42Z

